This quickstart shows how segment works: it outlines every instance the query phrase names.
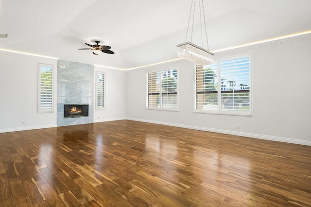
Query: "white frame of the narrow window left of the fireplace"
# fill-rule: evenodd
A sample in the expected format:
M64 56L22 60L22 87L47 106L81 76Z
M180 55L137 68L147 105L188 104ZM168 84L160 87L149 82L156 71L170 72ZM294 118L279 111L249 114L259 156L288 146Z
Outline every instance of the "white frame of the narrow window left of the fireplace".
M48 67L51 68L52 70L52 83L51 83L51 108L41 108L41 67ZM46 64L46 63L38 63L38 113L52 113L54 112L54 82L55 82L55 78L54 78L54 65L52 64Z

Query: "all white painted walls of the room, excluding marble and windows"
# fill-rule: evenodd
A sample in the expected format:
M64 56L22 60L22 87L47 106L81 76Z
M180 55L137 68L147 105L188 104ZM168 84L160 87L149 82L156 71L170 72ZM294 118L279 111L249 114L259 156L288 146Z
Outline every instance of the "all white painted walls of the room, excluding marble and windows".
M94 111L94 122L129 119L311 145L311 35L217 55L249 52L253 54L252 117L193 113L193 65L175 61L128 71L97 66L94 71L106 72L106 108ZM37 113L39 62L56 68L55 59L0 52L0 133L56 126L56 82L54 112ZM146 110L146 71L176 65L179 111Z

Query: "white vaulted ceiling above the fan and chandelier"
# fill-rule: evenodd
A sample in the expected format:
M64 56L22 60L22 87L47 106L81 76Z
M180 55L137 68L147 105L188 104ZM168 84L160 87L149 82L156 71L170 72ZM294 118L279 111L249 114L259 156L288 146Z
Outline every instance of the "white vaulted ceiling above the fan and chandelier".
M190 4L0 0L0 34L9 34L0 38L0 49L119 69L168 61L185 42ZM204 0L204 6L210 51L311 30L311 0ZM192 42L201 46L199 18L194 21ZM78 50L94 40L115 54Z

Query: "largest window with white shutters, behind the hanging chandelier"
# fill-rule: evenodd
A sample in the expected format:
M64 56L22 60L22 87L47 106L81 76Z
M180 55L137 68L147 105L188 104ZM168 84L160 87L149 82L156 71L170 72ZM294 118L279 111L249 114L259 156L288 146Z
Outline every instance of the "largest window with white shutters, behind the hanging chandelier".
M251 115L251 56L195 69L195 112Z

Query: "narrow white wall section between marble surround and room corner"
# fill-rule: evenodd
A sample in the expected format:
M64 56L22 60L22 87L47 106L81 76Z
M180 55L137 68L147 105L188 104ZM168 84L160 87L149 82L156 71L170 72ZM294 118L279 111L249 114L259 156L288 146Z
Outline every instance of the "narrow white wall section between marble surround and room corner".
M126 119L126 71L94 67L94 96L96 71L105 72L105 110L94 110L94 122ZM94 103L96 104L95 97ZM94 107L95 108L95 107Z

